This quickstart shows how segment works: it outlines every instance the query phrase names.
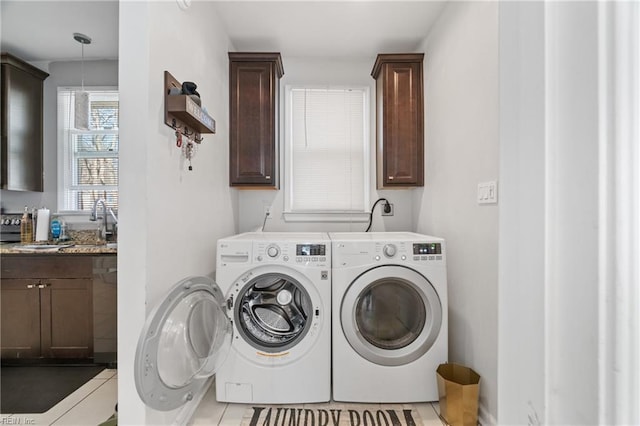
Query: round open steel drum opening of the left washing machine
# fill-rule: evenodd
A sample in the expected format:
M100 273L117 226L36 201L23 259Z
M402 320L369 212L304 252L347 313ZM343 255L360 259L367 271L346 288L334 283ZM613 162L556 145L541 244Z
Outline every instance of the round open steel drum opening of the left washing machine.
M313 305L295 278L281 273L259 275L238 293L234 318L239 334L253 347L282 352L309 330Z

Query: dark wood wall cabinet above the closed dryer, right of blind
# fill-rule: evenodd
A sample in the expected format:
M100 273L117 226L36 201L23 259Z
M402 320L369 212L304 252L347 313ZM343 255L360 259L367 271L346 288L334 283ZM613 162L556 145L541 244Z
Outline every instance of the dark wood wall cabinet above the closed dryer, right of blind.
M424 185L424 54L380 54L376 80L378 188Z

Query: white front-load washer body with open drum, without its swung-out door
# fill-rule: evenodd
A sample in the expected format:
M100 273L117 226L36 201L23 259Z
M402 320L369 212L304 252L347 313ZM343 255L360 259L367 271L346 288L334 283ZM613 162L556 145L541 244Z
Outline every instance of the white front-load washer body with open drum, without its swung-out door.
M331 397L331 241L257 232L218 241L216 281L233 324L216 398L240 403Z

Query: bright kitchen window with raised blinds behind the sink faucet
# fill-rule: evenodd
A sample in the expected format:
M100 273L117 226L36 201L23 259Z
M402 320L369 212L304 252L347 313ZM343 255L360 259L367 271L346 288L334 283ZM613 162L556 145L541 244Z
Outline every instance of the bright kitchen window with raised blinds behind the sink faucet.
M89 130L77 130L76 90L58 89L58 210L88 211L99 198L117 210L118 91L85 88Z

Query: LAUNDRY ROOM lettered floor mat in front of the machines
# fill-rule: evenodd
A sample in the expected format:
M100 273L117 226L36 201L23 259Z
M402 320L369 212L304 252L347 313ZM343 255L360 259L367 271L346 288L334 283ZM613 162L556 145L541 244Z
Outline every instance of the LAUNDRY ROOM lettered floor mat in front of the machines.
M423 423L411 404L249 405L241 426L258 425L422 426Z

